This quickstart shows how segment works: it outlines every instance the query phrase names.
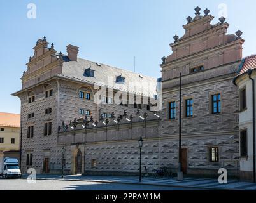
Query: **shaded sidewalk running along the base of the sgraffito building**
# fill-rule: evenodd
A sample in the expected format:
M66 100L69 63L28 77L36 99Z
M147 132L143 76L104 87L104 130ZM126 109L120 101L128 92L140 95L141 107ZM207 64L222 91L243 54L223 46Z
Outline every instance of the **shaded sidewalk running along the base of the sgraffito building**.
M25 176L24 176L25 178ZM218 183L217 179L212 178L185 178L183 181L178 181L176 178L142 178L139 183L138 177L124 176L79 176L68 175L64 179L59 175L38 174L37 180L68 180L68 181L89 181L99 183L123 183L123 184L139 184L139 185L159 185L170 187L187 187L187 188L203 188L206 190L256 190L256 183L248 183L238 180L228 180L227 184Z

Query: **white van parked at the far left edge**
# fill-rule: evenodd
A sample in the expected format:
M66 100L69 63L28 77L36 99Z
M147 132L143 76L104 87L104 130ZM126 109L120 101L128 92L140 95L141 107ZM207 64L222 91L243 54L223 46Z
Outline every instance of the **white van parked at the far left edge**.
M0 175L4 178L21 178L22 174L18 166L18 159L8 157L1 158Z

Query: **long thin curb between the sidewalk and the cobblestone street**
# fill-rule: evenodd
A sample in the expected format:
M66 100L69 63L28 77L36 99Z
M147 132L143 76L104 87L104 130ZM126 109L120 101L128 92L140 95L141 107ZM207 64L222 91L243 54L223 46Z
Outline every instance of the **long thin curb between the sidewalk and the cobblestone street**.
M25 178L23 178L25 179ZM99 181L99 180L79 180L79 179L59 179L59 178L36 178L36 180L55 180L55 181L83 181L83 182L92 182L92 183L114 183L114 184L126 184L126 185L152 185L152 186L161 186L161 187L175 187L175 188L196 188L203 190L236 190L243 191L243 189L236 188L212 188L212 187L200 187L193 185L166 185L159 183L127 183L127 182L113 182L113 181Z

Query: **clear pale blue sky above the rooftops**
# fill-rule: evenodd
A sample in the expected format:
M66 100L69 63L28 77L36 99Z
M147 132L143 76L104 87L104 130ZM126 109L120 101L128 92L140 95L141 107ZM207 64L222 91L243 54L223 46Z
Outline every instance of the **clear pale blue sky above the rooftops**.
M27 18L27 4L36 19ZM256 53L255 0L0 0L0 112L20 113L20 77L36 41L47 37L57 51L80 47L80 58L160 77L160 58L171 54L173 36L183 36L188 15L198 5L218 22L218 6L227 5L229 33L243 31L244 56Z

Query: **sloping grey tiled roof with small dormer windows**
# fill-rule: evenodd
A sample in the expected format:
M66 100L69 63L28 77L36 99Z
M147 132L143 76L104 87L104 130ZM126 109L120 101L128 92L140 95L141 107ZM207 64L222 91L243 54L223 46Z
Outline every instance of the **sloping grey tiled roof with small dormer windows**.
M85 69L89 68L95 70L94 77L85 76ZM119 75L125 77L124 84L116 83L116 78ZM98 86L103 86L106 84L106 86L112 89L128 91L138 95L150 96L152 98L157 93L156 78L137 74L129 70L111 67L102 63L91 62L82 58L78 58L77 61L65 61L62 66L62 74L59 74L58 76L86 82L92 85L95 84ZM109 83L109 79L111 79L111 83ZM141 86L143 89L136 88L136 91L134 91L134 88L129 87L129 84L131 85L130 82L134 82L134 84L137 84L136 87Z

